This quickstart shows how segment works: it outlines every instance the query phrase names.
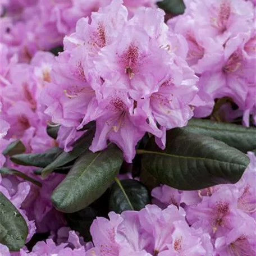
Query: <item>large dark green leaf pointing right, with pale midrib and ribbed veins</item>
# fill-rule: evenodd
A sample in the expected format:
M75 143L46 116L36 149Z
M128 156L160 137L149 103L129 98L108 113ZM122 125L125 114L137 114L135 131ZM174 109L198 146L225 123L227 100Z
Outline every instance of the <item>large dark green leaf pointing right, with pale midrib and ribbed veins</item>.
M166 149L150 139L143 154L143 168L158 181L180 190L236 183L249 164L239 150L211 137L182 129L167 132Z

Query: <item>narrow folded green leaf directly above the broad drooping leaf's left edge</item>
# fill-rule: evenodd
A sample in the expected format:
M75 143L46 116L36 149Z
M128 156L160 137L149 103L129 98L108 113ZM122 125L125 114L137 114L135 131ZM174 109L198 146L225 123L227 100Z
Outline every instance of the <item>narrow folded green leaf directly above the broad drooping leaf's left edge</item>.
M42 178L44 179L53 172L54 169L61 167L79 157L83 154L92 143L95 129L90 129L76 141L74 148L70 152L62 152L52 163L42 171Z

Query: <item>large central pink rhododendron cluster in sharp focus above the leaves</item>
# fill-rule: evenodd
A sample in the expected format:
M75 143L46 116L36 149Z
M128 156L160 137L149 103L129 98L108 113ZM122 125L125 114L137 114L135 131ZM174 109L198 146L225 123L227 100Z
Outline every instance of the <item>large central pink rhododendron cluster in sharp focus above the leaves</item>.
M61 124L58 142L65 150L96 121L90 150L103 150L109 140L131 162L145 132L164 148L166 130L187 124L201 103L197 77L184 60L185 39L168 30L162 10L140 8L129 19L116 0L91 20L80 19L64 39L42 93L45 113Z

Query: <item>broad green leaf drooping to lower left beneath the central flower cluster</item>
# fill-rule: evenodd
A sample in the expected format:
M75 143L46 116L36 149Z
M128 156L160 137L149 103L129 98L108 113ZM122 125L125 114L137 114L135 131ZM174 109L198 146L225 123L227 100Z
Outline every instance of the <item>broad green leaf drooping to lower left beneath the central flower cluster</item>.
M65 213L87 207L108 189L121 164L122 152L113 144L97 153L86 151L53 191L54 207Z

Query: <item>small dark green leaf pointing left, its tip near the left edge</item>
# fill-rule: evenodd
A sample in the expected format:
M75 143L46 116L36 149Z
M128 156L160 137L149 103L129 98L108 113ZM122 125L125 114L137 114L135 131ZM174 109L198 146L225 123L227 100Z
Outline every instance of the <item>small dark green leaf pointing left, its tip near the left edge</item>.
M43 153L16 154L10 159L13 163L22 166L36 166L44 168L51 164L63 151L60 148L51 148Z

